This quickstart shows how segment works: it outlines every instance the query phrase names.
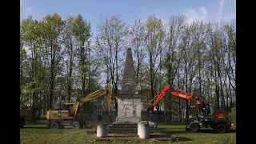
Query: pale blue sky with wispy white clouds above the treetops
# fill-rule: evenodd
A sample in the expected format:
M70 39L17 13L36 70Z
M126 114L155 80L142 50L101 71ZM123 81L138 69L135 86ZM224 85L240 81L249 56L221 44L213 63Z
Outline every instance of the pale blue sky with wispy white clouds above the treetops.
M93 34L100 18L119 15L129 25L135 19L146 22L150 14L168 22L171 14L185 14L187 22L231 22L236 19L235 0L20 0L20 18L42 19L58 13L62 19L81 14L90 21Z

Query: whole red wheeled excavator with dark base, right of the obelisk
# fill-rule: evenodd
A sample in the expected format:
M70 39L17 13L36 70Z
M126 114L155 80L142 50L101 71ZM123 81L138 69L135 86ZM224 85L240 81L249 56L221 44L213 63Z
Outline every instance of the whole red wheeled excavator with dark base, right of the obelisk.
M178 88L172 89L170 85L167 85L162 89L148 104L148 109L151 106L155 106L160 100L166 96L166 94L172 94L179 98L188 99L192 102L196 102L197 106L197 118L186 125L186 131L198 132L201 127L212 127L214 131L218 133L226 133L230 131L230 118L226 111L215 111L214 106L206 102L203 98L198 98L192 94L188 94ZM153 103L152 103L153 102Z

